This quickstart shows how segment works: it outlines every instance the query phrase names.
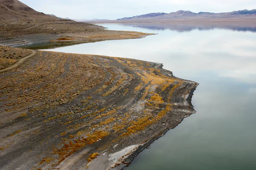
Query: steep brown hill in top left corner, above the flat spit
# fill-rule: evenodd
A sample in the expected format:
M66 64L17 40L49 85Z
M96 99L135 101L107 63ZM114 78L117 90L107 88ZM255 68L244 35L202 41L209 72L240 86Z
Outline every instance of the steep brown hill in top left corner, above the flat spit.
M35 11L18 0L0 0L0 21L54 21L57 17Z

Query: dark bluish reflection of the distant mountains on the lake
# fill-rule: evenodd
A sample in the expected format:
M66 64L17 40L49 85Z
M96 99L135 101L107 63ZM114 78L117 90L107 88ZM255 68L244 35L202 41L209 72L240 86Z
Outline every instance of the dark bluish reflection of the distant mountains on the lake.
M146 28L150 30L174 30L179 32L198 30L210 30L214 28L230 29L233 31L251 31L256 32L256 23L134 23L122 24L124 26L133 26Z

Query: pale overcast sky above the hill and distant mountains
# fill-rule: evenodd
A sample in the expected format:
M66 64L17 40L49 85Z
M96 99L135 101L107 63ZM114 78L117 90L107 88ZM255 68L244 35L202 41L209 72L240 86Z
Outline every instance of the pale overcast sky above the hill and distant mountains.
M36 11L72 19L110 19L151 12L228 12L255 9L256 0L20 0Z

